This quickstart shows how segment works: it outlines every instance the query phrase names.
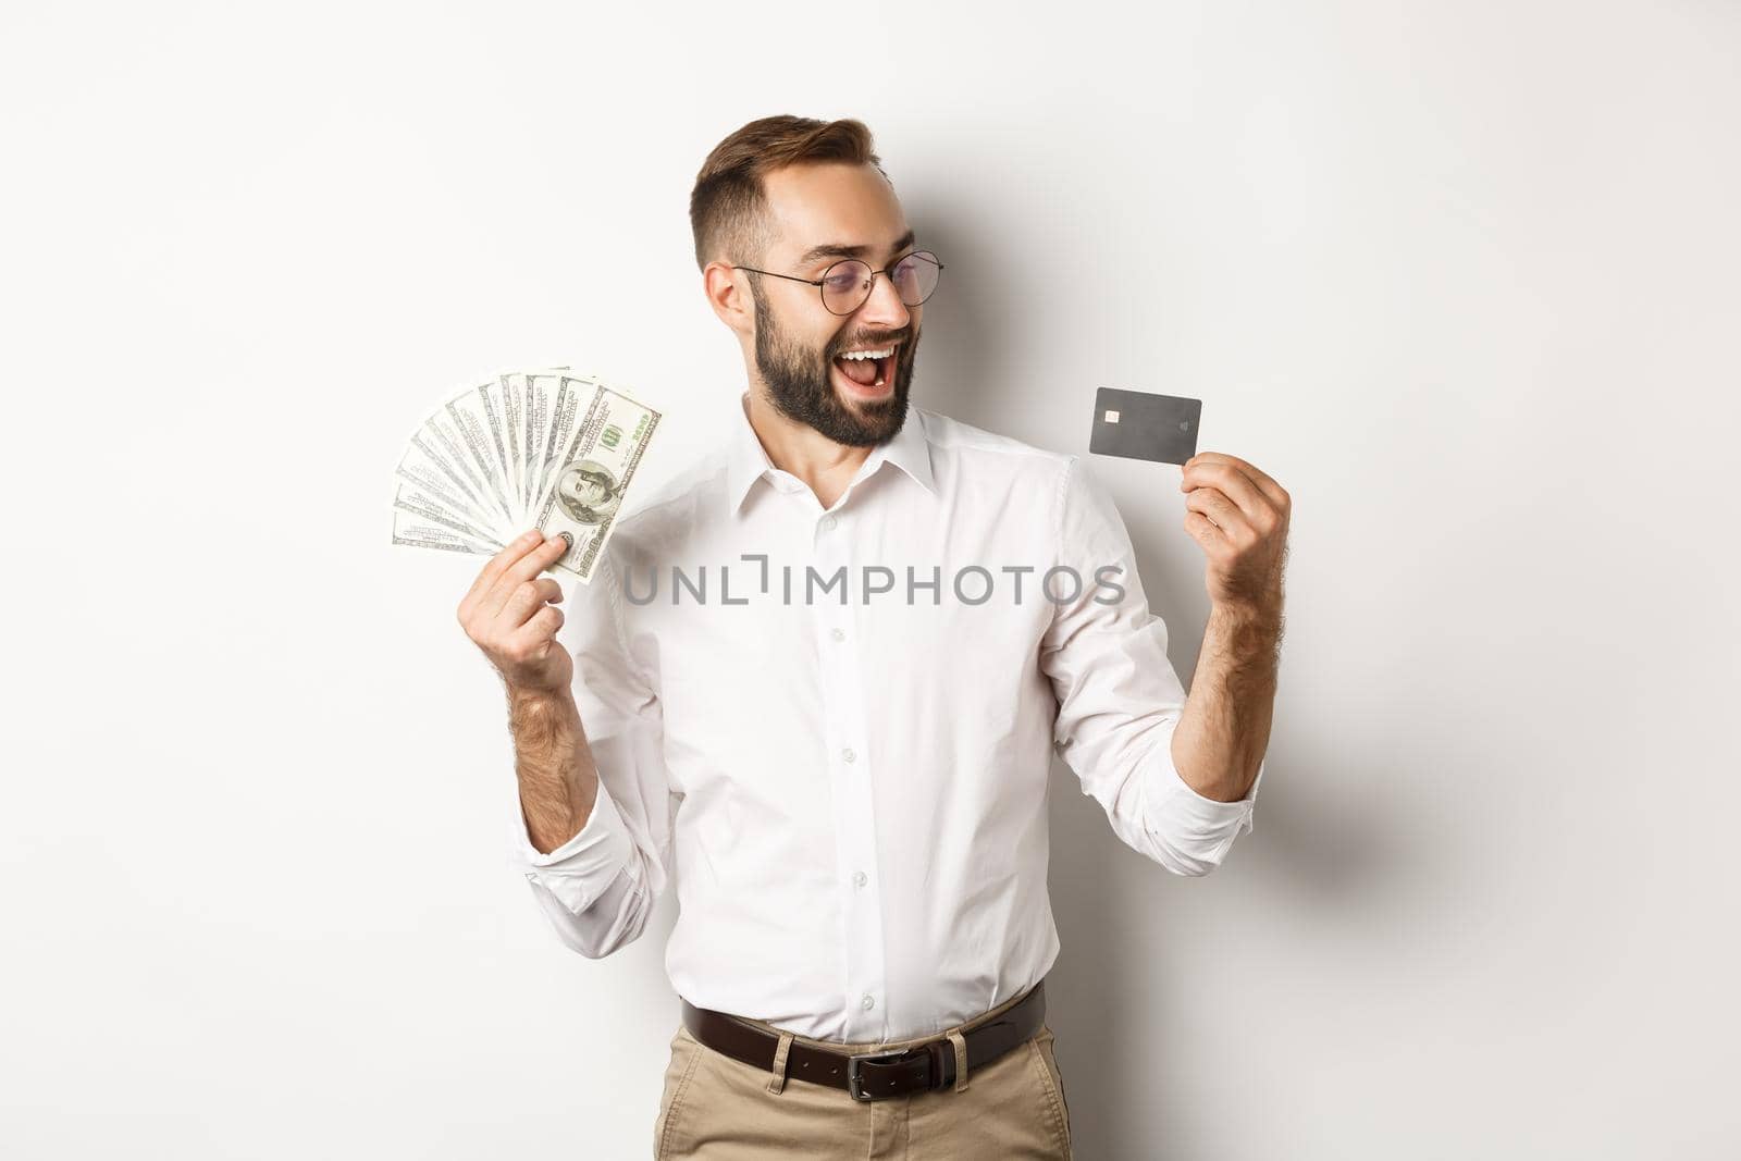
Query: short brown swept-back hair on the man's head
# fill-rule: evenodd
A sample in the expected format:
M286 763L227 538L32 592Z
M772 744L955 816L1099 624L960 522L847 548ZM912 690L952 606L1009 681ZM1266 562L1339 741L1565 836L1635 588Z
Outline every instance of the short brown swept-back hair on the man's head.
M702 162L689 193L689 228L695 232L695 265L724 256L733 265L761 265L773 242L763 174L801 162L883 162L870 148L870 129L860 120L815 120L811 117L763 117L714 146ZM759 282L757 275L750 275Z

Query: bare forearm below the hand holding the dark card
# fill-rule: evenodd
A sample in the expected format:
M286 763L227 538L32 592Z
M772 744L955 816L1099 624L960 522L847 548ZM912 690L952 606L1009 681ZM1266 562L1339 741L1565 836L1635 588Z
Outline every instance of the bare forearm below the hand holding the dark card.
M1210 607L1191 695L1173 731L1173 766L1203 797L1236 802L1269 748L1281 611Z

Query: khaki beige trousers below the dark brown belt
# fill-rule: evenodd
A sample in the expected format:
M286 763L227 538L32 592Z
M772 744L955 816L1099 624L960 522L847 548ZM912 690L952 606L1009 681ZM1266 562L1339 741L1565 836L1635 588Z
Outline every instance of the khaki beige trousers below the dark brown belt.
M945 1034L959 1036L1020 999ZM898 1051L933 1039L839 1044L790 1036L761 1020L749 1023L787 1043L851 1053ZM1032 1039L958 1079L954 1088L857 1102L839 1088L787 1079L785 1044L775 1050L775 1069L764 1070L714 1051L679 1023L653 1124L653 1156L655 1161L1069 1161L1069 1107L1052 1039L1052 1029L1041 1025ZM958 1050L965 1051L959 1043Z

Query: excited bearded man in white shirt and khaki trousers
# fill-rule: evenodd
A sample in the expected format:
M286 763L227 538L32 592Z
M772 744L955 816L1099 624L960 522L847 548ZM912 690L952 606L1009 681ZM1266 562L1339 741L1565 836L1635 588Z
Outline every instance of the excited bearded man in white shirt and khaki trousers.
M750 122L691 226L742 421L620 517L569 618L536 533L460 606L507 686L533 895L599 957L676 884L660 1158L1067 1158L1050 757L1133 849L1220 865L1262 778L1288 494L1186 465L1212 597L1186 700L1086 465L909 406L942 263L860 122Z

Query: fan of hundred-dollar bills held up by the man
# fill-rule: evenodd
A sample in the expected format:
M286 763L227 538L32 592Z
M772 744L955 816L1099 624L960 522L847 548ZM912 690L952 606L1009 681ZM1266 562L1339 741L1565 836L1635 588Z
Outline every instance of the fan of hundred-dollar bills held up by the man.
M393 543L494 555L529 529L569 541L583 583L660 413L566 367L467 386L418 426L393 472Z

